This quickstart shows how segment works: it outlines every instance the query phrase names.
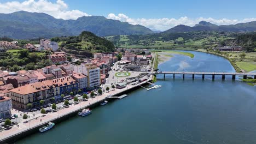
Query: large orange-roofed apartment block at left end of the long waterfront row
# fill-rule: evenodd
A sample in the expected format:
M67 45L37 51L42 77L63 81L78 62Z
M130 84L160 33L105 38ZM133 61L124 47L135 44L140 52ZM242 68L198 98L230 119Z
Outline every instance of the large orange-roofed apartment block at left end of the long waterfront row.
M27 104L29 103L33 107L39 106L40 100L49 99L48 89L50 88L42 82L10 89L13 106L19 109L28 109Z

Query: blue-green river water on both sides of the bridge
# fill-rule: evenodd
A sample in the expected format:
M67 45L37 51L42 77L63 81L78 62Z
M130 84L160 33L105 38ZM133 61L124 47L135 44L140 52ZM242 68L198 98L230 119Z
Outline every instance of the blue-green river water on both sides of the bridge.
M222 57L191 53L175 55L160 71L235 71ZM181 77L158 76L159 89L138 89L16 143L256 143L255 87L230 77Z

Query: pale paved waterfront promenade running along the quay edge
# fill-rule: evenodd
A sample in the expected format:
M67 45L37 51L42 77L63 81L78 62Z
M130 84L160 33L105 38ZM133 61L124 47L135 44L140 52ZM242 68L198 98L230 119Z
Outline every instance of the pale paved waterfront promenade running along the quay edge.
M152 76L150 76L150 78L148 80L152 80ZM57 112L51 112L51 113L48 113L48 114L38 113L34 117L31 116L27 120L21 119L21 122L19 123L19 127L17 125L14 125L13 127L11 127L11 129L2 130L0 132L0 143L2 143L2 141L5 140L5 139L8 139L8 138L13 137L15 135L18 135L20 133L23 133L27 130L36 128L40 125L44 125L46 123L54 121L55 119L65 117L66 115L69 115L70 113L77 112L79 110L84 109L85 107L89 107L90 105L94 105L94 104L96 104L100 101L103 101L109 95L120 96L121 93L129 91L132 88L139 87L139 85L143 85L145 83L147 83L147 81L141 82L138 85L134 85L134 86L127 85L127 87L125 87L123 89L115 89L115 91L110 91L108 93L103 93L102 95L98 95L94 99L89 99L88 101L81 101L77 105L74 105L74 104L69 105L68 108L61 109ZM56 127L57 127L57 125L56 125ZM38 133L39 133L39 131L38 131Z

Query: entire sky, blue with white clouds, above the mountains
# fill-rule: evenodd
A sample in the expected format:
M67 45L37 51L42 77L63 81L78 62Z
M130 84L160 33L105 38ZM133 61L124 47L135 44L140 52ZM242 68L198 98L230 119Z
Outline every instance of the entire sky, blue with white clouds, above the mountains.
M25 10L65 20L101 15L164 31L181 24L194 26L201 20L216 25L256 21L255 5L252 0L0 0L0 13Z

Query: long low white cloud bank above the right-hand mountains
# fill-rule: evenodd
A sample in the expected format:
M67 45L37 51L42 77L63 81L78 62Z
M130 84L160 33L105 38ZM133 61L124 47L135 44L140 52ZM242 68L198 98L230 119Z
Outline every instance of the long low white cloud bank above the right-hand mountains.
M126 16L125 14L109 14L108 19L113 20L119 20L119 21L126 21L129 22L132 25L142 25L146 26L150 29L157 29L160 31L165 31L167 29L170 29L177 25L187 25L187 26L195 26L200 21L208 21L211 23L214 23L216 25L233 25L236 23L242 23L242 22L250 22L250 21L256 21L256 18L250 18L250 19L243 19L243 20L231 20L231 19L213 19L211 17L209 18L203 18L199 17L197 19L190 19L187 16L180 17L179 19L168 19L168 18L162 18L162 19L132 19L129 16Z

